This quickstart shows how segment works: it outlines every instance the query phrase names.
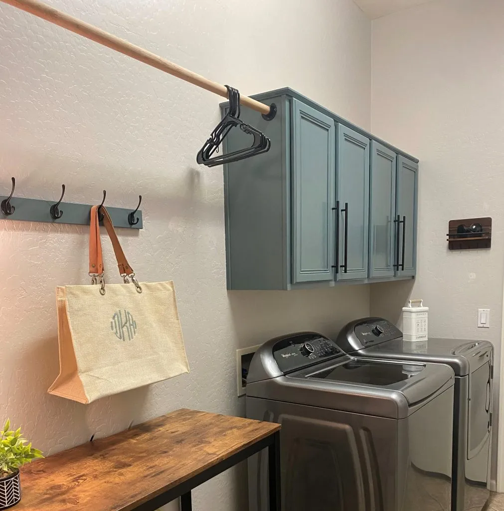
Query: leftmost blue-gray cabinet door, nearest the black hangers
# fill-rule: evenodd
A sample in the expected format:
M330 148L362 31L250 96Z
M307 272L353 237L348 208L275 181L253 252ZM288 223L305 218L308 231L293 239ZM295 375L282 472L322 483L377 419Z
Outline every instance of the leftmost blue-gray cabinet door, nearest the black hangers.
M334 121L293 100L293 283L331 281Z

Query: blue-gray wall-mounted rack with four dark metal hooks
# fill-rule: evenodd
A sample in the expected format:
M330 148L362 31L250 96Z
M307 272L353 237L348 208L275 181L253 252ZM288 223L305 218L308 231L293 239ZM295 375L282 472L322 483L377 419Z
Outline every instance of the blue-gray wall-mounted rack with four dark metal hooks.
M62 185L63 193L61 198L55 203L54 200L13 197L15 183L15 179L12 178L12 191L10 195L0 195L0 220L89 225L91 205L61 202L65 194L64 184ZM0 189L2 189L1 184ZM105 201L106 192L104 191L103 194L103 200ZM135 213L138 218L138 222L135 224L130 224L129 222L131 208L107 206L107 211L110 214L114 227L126 227L128 229L143 228L141 211Z

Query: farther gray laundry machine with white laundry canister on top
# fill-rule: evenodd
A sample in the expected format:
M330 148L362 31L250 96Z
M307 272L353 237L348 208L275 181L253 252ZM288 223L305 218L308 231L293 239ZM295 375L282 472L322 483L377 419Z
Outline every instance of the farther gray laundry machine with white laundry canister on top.
M482 509L487 489L492 427L493 346L488 341L403 341L383 318L351 321L336 339L352 356L448 364L455 373L452 511Z

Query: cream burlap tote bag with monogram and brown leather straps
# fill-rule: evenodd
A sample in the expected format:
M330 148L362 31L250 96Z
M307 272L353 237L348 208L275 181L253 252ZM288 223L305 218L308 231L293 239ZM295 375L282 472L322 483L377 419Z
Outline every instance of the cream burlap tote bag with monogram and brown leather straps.
M105 285L98 208L89 238L93 285L56 290L60 374L49 393L80 403L189 372L173 282L138 283L102 206L124 280Z

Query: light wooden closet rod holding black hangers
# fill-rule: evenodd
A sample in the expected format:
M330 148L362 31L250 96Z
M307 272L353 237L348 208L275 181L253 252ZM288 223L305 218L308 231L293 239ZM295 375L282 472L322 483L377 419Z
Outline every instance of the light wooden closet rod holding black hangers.
M223 98L228 97L227 89L224 85L221 85L217 82L212 82L207 78L193 73L188 69L185 69L169 60L158 57L154 53L148 52L135 44L132 44L124 39L116 37L108 32L105 32L98 27L94 27L93 25L89 25L88 23L81 21L74 16L70 16L65 14L64 12L58 11L49 5L40 2L39 0L0 0L4 4L12 5L13 7L17 7L22 11L29 12L30 14L34 14L39 18L45 19L58 25L70 32L74 32L83 37L87 37L94 42L98 42L107 48L115 50L116 52L123 53L124 55L128 55L128 57L132 57L140 62L145 64L149 64L157 69L161 69L165 73L176 76L186 82L192 83L194 85L198 85L203 89L209 90L214 94L218 94ZM253 110L256 110L263 114L270 113L270 107L263 103L259 103L258 101L248 98L247 96L240 96L240 103L244 106L248 106Z

